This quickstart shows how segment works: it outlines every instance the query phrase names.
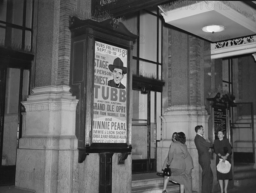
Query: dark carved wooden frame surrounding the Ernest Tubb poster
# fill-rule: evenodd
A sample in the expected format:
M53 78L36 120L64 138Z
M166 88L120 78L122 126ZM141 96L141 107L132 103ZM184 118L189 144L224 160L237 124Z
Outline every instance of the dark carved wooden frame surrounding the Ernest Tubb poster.
M132 50L137 35L116 19L102 22L70 17L71 57L70 92L79 99L76 110L76 136L78 138L79 163L89 153L122 153L126 159L131 153L131 93ZM93 102L95 74L95 42L113 45L127 50L126 127L125 143L93 143ZM122 160L120 160L121 162Z

